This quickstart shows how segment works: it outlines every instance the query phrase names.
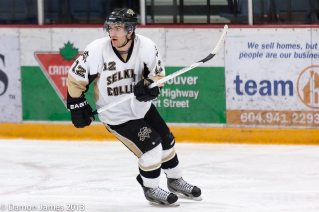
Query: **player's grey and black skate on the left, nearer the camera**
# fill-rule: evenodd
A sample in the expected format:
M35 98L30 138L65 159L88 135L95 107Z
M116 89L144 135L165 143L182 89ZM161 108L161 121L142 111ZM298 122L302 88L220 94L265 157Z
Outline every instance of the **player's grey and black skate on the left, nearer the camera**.
M161 189L160 187L156 189L145 187L143 185L141 175L138 175L136 179L141 184L144 191L144 195L146 199L149 201L150 205L169 207L179 206L179 203L177 202L178 197L175 194L167 192Z

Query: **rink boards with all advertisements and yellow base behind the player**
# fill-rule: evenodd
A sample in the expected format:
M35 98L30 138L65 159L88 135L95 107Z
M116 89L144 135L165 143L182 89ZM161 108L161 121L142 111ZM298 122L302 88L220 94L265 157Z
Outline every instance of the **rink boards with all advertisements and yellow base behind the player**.
M72 60L66 62L61 49L69 48L79 55L87 44L105 36L103 30L0 28L0 34L9 36L8 29L16 32L19 41L16 51L20 55L21 76L15 76L16 108L6 106L15 111L11 113L14 118L1 122L22 124L16 125L15 133L11 125L2 124L0 137L33 138L38 134L42 138L43 125L43 132L47 132L43 139L50 139L46 138L50 135L51 139L71 140L79 135L85 140L113 140L110 135L100 138L74 129L64 98L66 70ZM158 27L138 28L137 33L157 44L168 75L205 58L216 45L221 30ZM217 55L168 81L154 104L179 141L316 144L318 141L313 138L319 129L318 36L318 28L230 28ZM6 93L11 94L14 89ZM92 88L86 98L96 109ZM1 113L2 118L10 115ZM65 122L67 125L63 125ZM101 128L98 118L94 124L92 128ZM70 132L65 137L56 133L63 132L59 128L64 127ZM49 133L49 129L54 130ZM102 132L103 128L104 135Z

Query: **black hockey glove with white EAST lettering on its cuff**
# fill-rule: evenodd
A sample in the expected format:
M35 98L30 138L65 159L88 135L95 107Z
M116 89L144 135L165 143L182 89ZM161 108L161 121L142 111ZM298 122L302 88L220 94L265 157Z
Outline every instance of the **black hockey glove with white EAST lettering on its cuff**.
M70 98L67 100L67 108L71 112L71 120L76 128L84 128L89 126L95 120L91 116L92 107L84 98Z

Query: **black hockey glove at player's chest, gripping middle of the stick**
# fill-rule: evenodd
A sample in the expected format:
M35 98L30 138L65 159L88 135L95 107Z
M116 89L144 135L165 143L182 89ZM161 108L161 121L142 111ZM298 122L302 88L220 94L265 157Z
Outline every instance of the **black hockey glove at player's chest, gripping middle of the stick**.
M136 85L134 85L134 95L140 102L148 102L154 100L160 96L159 86L149 88L148 86L153 83L152 79L142 79Z

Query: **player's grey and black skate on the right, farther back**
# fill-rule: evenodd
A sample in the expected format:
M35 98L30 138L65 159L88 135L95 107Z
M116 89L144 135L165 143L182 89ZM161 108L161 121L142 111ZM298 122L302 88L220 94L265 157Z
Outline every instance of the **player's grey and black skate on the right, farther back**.
M177 195L180 199L186 200L196 200L200 201L201 198L201 191L200 188L190 185L183 178L179 179L171 179L167 178L167 187L168 190L175 195Z

